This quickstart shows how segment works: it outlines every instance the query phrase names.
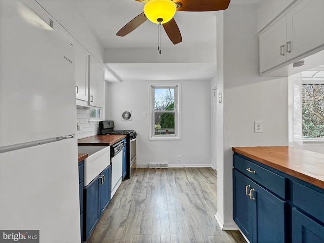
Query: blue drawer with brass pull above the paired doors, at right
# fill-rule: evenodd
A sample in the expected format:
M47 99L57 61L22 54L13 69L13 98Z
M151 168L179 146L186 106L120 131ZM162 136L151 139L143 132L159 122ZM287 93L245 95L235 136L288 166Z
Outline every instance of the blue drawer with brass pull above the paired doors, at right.
M262 168L236 154L233 154L233 166L236 170L258 182L263 187L274 192L281 198L287 199L286 178Z

